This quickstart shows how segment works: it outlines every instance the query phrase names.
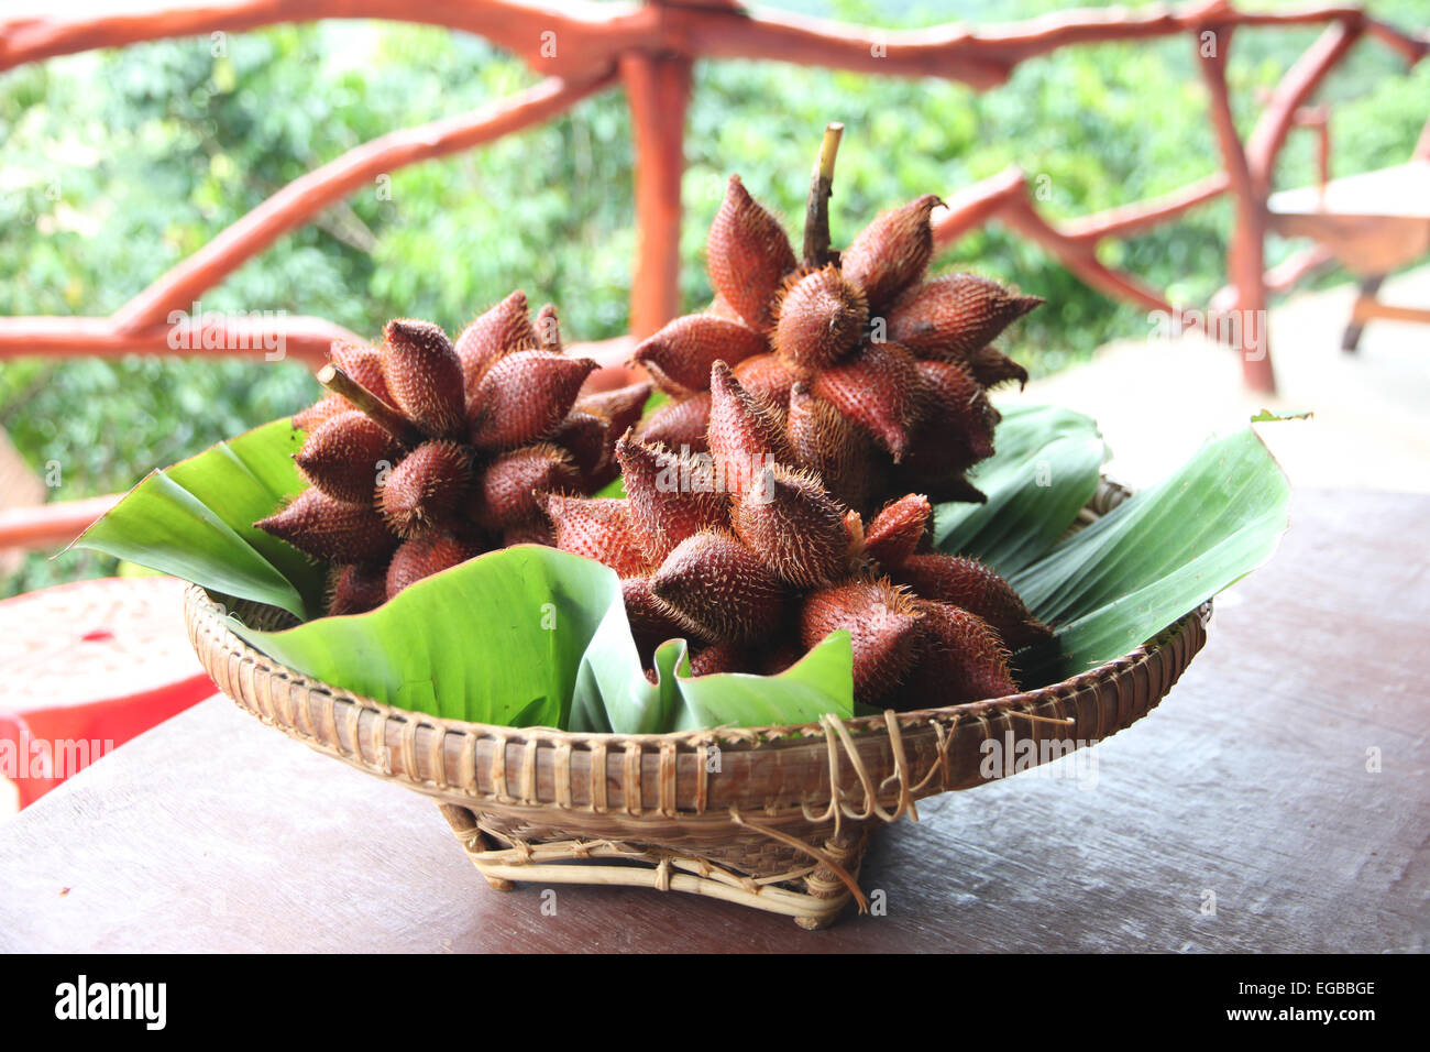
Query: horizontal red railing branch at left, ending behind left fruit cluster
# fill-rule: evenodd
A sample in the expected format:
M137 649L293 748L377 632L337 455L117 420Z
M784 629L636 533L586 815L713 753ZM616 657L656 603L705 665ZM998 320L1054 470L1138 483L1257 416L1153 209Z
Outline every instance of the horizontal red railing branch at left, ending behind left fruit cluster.
M183 315L174 325L150 325L133 332L119 329L113 318L0 318L0 359L24 355L252 355L317 366L327 361L335 339L365 342L342 325L303 315L199 319Z

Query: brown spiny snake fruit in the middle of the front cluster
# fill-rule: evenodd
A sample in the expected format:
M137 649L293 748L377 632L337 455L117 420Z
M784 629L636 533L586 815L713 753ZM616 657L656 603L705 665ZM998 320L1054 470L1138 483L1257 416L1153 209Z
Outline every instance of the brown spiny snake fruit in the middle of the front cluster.
M812 588L847 573L844 508L799 471L765 468L735 505L732 524L739 540L792 585Z

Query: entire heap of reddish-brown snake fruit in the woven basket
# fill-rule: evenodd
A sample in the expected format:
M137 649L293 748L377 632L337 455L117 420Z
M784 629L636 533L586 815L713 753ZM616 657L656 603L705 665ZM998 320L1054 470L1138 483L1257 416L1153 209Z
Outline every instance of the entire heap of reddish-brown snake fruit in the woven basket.
M984 500L967 472L992 454L988 389L1027 379L992 341L1041 301L927 276L935 205L842 252L821 215L797 260L731 177L714 303L635 351L668 396L651 414L649 382L583 394L595 362L521 292L455 342L393 321L380 346L335 345L330 394L293 421L310 487L256 525L332 565L329 614L551 544L616 571L652 677L669 638L696 676L771 674L847 630L861 703L1014 693L1011 653L1050 630L992 570L934 550L932 507ZM625 497L592 497L618 474Z

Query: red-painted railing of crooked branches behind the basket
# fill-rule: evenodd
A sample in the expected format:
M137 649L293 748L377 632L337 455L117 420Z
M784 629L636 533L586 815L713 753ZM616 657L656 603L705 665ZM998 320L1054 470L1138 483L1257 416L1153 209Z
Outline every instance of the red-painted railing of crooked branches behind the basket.
M521 56L545 76L535 86L475 113L392 132L358 146L293 180L212 242L160 275L113 315L103 318L0 318L0 358L33 354L116 355L134 351L172 354L169 318L186 311L242 263L319 212L370 186L379 173L468 150L558 116L582 99L621 84L635 129L635 203L638 248L631 292L631 333L641 338L679 313L681 175L691 67L696 59L765 59L885 76L935 76L975 89L1004 83L1014 67L1060 47L1187 36L1210 94L1223 169L1173 193L1124 205L1075 220L1052 223L1032 205L1017 169L948 196L935 213L941 246L994 219L1037 242L1088 285L1110 296L1165 311L1183 308L1137 276L1101 263L1097 246L1108 238L1134 236L1224 193L1236 202L1236 226L1227 252L1230 285L1214 301L1218 312L1263 312L1267 289L1286 288L1324 253L1310 250L1271 273L1266 272L1266 200L1276 159L1293 126L1314 123L1310 97L1350 49L1371 37L1397 52L1407 64L1424 57L1424 31L1404 33L1360 7L1327 4L1287 11L1241 11L1230 3L1194 3L1128 11L1074 10L1004 26L962 23L921 30L879 30L744 10L721 0L652 0L648 4L563 3L546 9L521 0L237 0L176 3L133 14L66 19L40 16L0 21L0 70L93 47L114 47L216 31L315 19L389 19L422 21L478 33ZM1318 40L1287 72L1271 93L1253 133L1243 143L1231 120L1226 63L1233 36L1253 27L1326 26ZM1205 312L1197 313L1207 319ZM193 354L232 354L222 348L255 346L245 322L223 322L217 339L199 341ZM265 322L285 351L310 362L323 361L333 339L358 339L319 318ZM1211 326L1208 326L1211 328ZM1250 341L1253 326L1233 326ZM1246 382L1274 391L1264 333L1243 345ZM204 342L219 344L203 351ZM629 339L588 346L612 372L619 369ZM66 528L70 525L66 521ZM26 538L34 541L33 522ZM14 542L0 512L0 547ZM67 538L66 538L67 540Z

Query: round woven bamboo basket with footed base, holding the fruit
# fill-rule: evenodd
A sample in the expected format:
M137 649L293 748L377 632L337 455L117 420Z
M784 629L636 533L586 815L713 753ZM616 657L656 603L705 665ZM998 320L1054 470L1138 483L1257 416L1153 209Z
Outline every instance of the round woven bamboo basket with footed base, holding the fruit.
M1125 497L1104 481L1072 528ZM225 694L320 753L433 797L492 887L689 892L808 929L851 900L865 907L859 862L877 829L917 822L927 796L998 777L985 740L1031 740L1037 761L1145 716L1201 650L1210 613L1207 603L1115 661L992 701L794 727L576 734L445 720L317 683L249 647L202 588L184 600L189 637Z

